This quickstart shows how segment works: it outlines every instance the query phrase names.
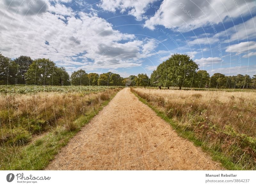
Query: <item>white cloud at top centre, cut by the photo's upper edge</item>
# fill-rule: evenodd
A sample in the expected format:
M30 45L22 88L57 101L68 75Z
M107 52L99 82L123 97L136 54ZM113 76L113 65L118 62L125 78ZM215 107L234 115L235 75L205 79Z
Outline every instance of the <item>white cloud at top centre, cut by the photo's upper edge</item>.
M142 20L143 14L148 9L148 4L154 1L156 0L102 0L99 6L110 12L129 11L128 14L133 15L137 20Z

